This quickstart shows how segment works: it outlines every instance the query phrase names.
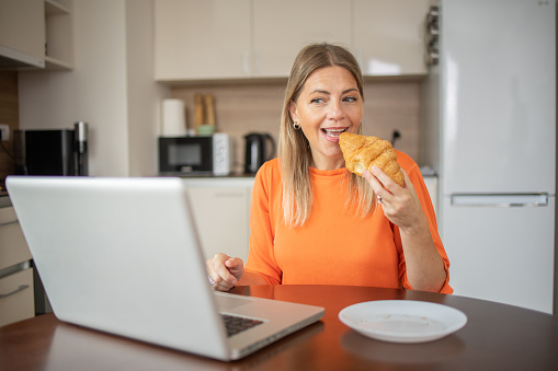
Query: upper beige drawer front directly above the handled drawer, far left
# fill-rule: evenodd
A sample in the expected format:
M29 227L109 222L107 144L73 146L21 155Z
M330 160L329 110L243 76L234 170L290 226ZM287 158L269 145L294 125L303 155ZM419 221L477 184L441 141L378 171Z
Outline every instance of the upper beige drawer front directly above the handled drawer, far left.
M19 222L0 224L0 269L31 259Z

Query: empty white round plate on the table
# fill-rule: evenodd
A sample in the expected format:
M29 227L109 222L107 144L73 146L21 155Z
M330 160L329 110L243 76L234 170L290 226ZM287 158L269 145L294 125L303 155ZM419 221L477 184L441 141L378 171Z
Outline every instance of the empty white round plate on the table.
M376 300L350 305L339 320L374 339L424 343L455 333L467 316L454 308L413 300Z

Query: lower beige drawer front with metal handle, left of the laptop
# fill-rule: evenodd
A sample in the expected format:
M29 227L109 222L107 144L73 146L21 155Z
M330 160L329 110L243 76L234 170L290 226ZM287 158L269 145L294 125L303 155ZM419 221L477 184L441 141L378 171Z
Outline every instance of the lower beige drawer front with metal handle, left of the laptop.
M0 279L0 326L33 316L33 268Z

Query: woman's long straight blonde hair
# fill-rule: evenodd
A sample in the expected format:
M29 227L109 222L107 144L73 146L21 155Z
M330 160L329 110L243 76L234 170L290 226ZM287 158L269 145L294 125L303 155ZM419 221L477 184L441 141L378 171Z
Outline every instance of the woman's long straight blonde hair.
M288 78L277 146L283 177L283 219L288 227L303 225L310 218L314 199L309 170L312 160L310 144L303 131L293 127L289 105L298 98L310 73L333 66L343 67L353 74L364 100L358 63L353 55L341 46L327 43L306 46L298 53ZM358 127L358 131L361 130ZM356 201L355 212L360 210L362 217L372 213L375 207L372 187L357 175L348 173L348 205Z

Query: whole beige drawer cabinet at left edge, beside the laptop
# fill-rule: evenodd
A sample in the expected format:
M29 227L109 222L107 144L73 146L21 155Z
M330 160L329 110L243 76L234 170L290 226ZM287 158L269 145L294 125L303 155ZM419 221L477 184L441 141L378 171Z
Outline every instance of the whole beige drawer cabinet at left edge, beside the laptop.
M0 208L0 326L35 315L31 258L13 207Z

